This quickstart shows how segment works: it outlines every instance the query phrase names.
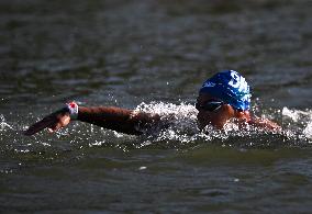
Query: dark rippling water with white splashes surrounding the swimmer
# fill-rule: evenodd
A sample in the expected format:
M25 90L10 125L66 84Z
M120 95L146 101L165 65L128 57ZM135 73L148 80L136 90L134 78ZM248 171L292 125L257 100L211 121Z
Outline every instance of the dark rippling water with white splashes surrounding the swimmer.
M0 213L311 212L311 14L310 0L0 1ZM282 133L197 132L198 88L224 69ZM21 135L70 100L176 125Z

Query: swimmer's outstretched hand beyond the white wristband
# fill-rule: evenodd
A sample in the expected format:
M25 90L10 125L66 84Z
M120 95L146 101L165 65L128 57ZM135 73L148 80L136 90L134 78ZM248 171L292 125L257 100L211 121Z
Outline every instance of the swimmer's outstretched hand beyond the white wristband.
M65 127L70 122L70 115L67 108L63 108L47 116L43 120L36 122L35 124L31 125L26 131L23 132L24 135L31 136L44 128L48 128L49 133L54 133L62 127Z

